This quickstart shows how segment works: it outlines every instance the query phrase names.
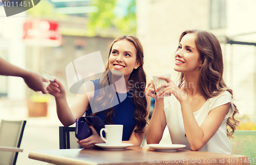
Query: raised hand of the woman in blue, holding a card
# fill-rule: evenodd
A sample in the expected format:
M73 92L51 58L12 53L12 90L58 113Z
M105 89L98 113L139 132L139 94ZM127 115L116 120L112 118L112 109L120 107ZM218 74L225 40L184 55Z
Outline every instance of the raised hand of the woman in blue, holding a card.
M65 88L57 78L54 78L54 82L50 81L46 89L55 98L65 95Z

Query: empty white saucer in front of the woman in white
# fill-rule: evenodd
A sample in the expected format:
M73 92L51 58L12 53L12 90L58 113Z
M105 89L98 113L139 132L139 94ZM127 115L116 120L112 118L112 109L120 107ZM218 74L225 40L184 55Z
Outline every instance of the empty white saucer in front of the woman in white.
M177 145L177 144L172 144L172 145L151 144L147 146L159 152L176 152L178 149L186 147L186 145Z

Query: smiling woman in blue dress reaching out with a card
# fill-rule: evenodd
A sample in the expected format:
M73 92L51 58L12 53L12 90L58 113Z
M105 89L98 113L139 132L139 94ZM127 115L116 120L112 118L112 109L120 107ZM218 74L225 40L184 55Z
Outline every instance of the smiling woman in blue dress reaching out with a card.
M123 125L122 143L133 144L133 147L140 146L150 109L148 104L150 99L145 96L146 75L143 69L143 57L143 48L138 38L129 35L117 37L110 46L108 63L105 65L106 72L100 79L86 82L86 86L90 86L91 91L94 91L93 95L89 95L89 92L77 95L76 102L70 107L62 83L58 79L51 82L47 90L55 97L60 122L68 127L84 113L99 116L104 124ZM125 83L121 86L125 87L125 91L118 93L117 88L112 88L111 84L115 82L113 80L115 72L120 71ZM121 95L127 97L115 105L114 97L119 96L120 99ZM93 100L93 103L89 100ZM111 104L115 106L109 107ZM95 111L96 113L93 113ZM97 131L93 127L91 129L90 137L77 141L83 148L92 148L95 144L105 143Z

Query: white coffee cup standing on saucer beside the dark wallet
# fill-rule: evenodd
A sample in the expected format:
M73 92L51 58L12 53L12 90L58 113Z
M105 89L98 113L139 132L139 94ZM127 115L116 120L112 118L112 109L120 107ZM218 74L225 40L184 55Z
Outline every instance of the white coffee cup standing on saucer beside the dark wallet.
M102 136L102 131L105 131L106 139ZM100 130L100 137L108 146L120 146L122 144L123 125L105 125L105 128Z

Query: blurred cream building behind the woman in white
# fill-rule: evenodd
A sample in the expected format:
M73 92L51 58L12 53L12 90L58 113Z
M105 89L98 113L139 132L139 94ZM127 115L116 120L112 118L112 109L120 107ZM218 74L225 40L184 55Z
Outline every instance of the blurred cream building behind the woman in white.
M218 36L224 55L224 78L234 91L240 117L256 117L256 2L248 0L137 0L137 36L145 50L148 79L171 73L180 34L208 30ZM230 42L240 44L229 44ZM249 45L252 43L252 45ZM154 67L152 67L154 66Z

